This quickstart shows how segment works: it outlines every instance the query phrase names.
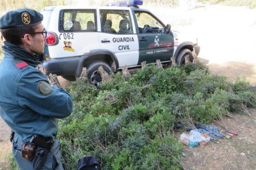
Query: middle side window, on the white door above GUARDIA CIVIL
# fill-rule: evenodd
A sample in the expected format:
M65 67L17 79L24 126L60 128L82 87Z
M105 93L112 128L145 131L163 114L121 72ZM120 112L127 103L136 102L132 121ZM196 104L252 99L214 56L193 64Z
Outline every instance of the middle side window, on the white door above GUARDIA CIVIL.
M132 34L129 10L100 10L101 30L109 34Z

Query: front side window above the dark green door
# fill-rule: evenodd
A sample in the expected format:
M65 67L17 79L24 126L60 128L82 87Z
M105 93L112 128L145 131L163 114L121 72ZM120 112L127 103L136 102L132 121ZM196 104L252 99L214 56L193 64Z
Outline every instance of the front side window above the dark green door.
M139 33L164 33L164 25L147 12L135 11Z

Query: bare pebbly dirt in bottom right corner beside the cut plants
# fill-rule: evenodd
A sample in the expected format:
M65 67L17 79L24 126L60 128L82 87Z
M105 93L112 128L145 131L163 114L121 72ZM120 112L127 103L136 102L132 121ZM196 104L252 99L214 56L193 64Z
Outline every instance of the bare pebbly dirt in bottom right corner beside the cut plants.
M224 124L235 130L238 136L208 142L205 147L189 148L182 151L184 169L255 169L256 168L256 109L250 109L252 116L233 113L224 118ZM213 123L225 130L219 123Z

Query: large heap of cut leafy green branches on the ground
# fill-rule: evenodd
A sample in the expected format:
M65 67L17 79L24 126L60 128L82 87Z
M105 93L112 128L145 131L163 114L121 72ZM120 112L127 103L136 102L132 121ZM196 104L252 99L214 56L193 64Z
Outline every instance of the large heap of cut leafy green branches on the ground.
M203 63L181 67L145 66L124 78L92 86L88 79L70 84L74 111L59 120L58 139L66 169L95 156L101 169L182 169L179 124L209 124L232 112L255 107L248 81L227 81Z

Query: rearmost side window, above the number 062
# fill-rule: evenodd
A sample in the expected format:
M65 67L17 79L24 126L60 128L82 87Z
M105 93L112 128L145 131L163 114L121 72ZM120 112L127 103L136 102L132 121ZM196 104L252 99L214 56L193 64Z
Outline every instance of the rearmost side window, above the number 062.
M95 10L64 10L61 30L96 31Z

